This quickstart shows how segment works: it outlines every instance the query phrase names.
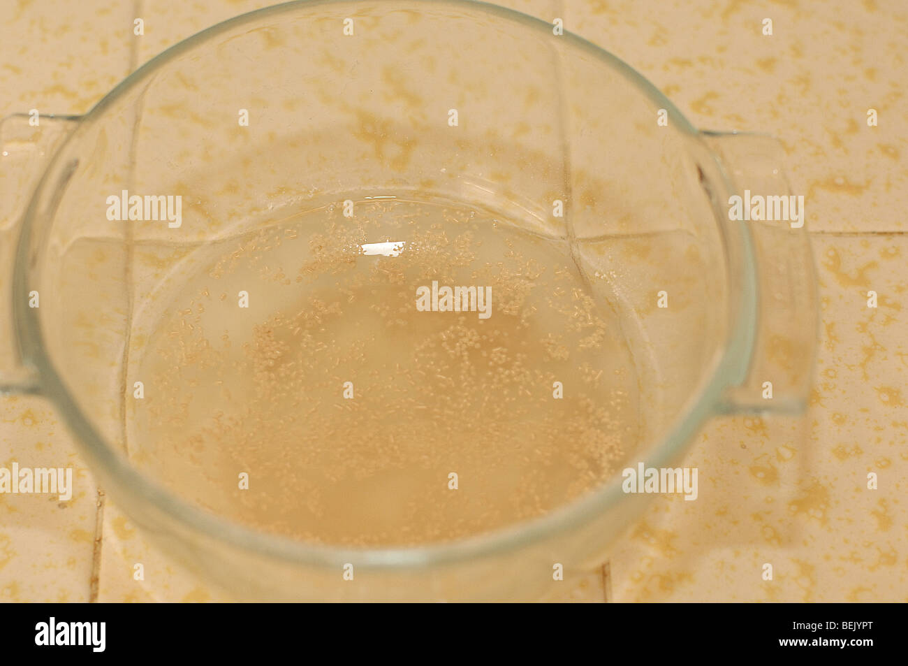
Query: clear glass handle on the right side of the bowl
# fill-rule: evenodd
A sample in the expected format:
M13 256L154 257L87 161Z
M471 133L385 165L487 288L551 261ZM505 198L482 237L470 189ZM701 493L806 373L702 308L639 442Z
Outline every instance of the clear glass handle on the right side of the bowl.
M703 136L735 190L732 196L740 197L740 215L731 196L725 209L729 224L743 225L755 264L749 363L726 390L720 409L803 413L810 400L819 337L819 297L804 224L804 196L793 196L782 171L785 152L775 138L739 133ZM774 219L735 221L740 216L758 217L761 198L764 218ZM748 203L754 215L745 213Z

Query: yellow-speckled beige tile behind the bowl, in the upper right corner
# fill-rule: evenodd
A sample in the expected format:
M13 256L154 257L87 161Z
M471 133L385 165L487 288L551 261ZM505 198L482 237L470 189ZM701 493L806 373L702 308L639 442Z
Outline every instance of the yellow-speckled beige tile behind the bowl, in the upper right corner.
M778 136L809 228L908 229L902 0L577 0L566 27L624 59L696 127Z

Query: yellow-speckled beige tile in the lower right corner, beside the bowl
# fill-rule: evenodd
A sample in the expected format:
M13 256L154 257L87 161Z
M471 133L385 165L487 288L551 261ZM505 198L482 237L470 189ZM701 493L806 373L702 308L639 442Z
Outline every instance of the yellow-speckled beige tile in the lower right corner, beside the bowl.
M699 468L698 500L658 498L615 549L617 601L908 601L908 237L814 246L822 335L806 418L710 423L684 462Z

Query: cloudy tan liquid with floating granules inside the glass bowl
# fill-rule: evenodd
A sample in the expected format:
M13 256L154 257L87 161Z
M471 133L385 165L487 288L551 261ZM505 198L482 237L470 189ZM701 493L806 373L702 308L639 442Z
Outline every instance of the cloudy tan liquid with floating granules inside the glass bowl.
M361 249L386 242L397 255ZM558 508L632 448L627 344L563 240L459 204L363 200L206 248L180 275L133 343L129 453L233 521L449 541ZM490 287L488 318L420 311L433 281Z

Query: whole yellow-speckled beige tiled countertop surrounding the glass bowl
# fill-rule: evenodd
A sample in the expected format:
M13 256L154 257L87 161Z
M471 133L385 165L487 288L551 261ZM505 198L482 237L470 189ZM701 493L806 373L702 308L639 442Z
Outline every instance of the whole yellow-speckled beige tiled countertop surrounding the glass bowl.
M166 47L268 4L6 2L0 117L33 108L82 114ZM792 191L805 197L822 307L804 417L709 422L683 463L706 481L698 501L657 497L608 562L566 582L558 598L908 601L908 5L500 4L562 18L656 84L697 127L777 136ZM133 35L136 18L143 35ZM765 18L773 35L763 35ZM0 220L4 261L11 223ZM4 299L8 280L0 273ZM867 306L871 290L876 308ZM0 494L0 600L224 598L148 547L42 399L0 398L0 466L13 462L72 466L75 488L68 502ZM878 475L876 490L866 487L868 472ZM136 562L142 582L133 580ZM772 581L761 575L765 562Z

